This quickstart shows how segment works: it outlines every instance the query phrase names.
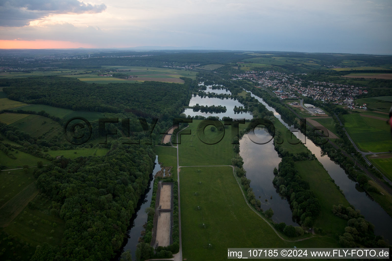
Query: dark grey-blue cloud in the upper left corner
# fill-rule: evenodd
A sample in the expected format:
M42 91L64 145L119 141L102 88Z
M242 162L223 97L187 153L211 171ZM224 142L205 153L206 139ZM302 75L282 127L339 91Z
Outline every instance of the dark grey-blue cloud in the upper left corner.
M0 0L0 26L22 27L51 14L101 13L105 4L78 0Z

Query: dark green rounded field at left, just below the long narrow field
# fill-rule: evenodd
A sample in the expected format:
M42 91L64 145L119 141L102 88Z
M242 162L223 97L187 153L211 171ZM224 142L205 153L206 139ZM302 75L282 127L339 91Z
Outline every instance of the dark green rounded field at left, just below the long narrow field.
M16 114L16 115L24 115L27 117L23 117L18 121L15 121L11 124L11 126L19 128L21 131L25 131L29 133L31 136L38 138L40 136L41 139L50 140L55 135L58 135L60 132L60 139L65 142L63 135L63 127L56 121L52 119L40 116L40 115L30 115L30 114ZM0 115L1 121L1 115ZM45 134L46 133L46 134Z

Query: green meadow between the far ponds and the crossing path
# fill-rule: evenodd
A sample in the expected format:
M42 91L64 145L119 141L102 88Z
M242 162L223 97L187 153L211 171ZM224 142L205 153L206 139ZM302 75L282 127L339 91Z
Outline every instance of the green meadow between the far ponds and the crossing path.
M198 125L202 120L193 120L185 131L191 130L191 135L181 135L181 144L179 147L180 166L214 166L214 165L231 165L231 159L234 152L231 144L231 129L223 131L211 131L211 126L205 128L205 140L209 143L218 141L222 135L223 139L217 144L209 145L203 143L197 134ZM223 124L223 123L222 123ZM244 129L246 124L240 124ZM180 132L183 133L183 132Z

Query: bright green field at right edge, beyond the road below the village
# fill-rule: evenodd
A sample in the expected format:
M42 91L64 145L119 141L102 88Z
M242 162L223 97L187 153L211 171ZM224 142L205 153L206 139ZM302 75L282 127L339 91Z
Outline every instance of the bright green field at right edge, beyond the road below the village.
M383 152L392 148L390 127L385 121L358 113L343 115L345 128L357 146L366 151Z

